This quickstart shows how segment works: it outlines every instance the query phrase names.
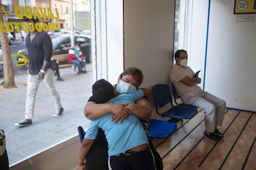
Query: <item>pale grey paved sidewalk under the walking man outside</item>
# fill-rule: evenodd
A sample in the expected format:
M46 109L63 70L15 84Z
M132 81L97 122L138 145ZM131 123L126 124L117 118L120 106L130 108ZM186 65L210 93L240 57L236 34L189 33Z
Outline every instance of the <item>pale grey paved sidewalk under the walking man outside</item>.
M71 67L60 69L65 81L56 80L56 87L64 112L58 118L53 118L53 97L45 84L41 83L36 94L33 124L28 127L14 126L25 117L25 70L15 73L17 88L3 89L0 86L0 129L6 133L9 166L78 134L78 126L88 127L89 120L83 115L83 107L92 95L91 64L87 64L87 71L77 75ZM3 78L0 78L2 81Z

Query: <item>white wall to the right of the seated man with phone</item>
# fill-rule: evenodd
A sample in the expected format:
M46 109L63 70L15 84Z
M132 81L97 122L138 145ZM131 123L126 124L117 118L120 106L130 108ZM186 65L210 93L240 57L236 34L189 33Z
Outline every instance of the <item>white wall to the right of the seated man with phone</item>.
M202 70L206 59L205 91L226 100L227 107L256 111L256 23L237 22L234 1L210 1L207 46L208 2L194 4L190 64L195 71Z

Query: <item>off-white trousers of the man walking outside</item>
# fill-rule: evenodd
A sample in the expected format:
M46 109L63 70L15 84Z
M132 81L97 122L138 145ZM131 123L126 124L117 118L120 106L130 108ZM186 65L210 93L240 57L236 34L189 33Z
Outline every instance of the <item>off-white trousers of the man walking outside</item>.
M26 109L25 118L32 119L34 115L35 107L35 96L38 90L38 86L43 81L48 87L51 95L54 97L55 113L59 113L61 106L61 98L59 97L59 92L57 91L54 83L54 72L51 68L45 71L44 79L38 79L38 75L30 75L27 77L27 98L26 98Z

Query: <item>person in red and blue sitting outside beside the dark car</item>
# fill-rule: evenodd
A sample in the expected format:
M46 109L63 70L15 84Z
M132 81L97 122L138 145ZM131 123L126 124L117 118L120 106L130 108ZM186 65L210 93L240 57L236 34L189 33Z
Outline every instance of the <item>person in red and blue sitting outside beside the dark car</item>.
M80 44L75 44L75 47L71 47L71 49L69 49L68 63L75 64L79 68L78 73L87 73L86 70L83 70L83 67L85 68L85 60L83 58Z

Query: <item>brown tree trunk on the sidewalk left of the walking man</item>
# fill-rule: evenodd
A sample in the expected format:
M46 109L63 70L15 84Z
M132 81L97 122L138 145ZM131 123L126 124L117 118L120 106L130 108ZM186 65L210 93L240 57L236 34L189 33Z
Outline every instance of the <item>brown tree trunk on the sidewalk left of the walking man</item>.
M0 1L0 6L2 1ZM2 13L0 12L0 22L4 23ZM2 61L4 62L4 88L11 89L17 87L14 82L14 69L12 67L11 50L7 33L0 31L1 47L2 47Z

